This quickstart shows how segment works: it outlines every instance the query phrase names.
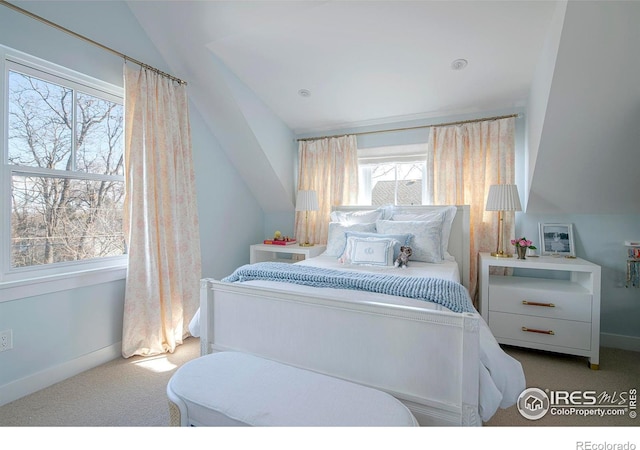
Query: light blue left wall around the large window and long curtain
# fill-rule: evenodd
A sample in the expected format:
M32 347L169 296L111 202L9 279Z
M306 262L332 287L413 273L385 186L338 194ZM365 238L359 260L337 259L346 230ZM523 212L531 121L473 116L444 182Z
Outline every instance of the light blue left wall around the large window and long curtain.
M20 6L171 72L124 2L45 1L21 2ZM123 84L121 58L5 6L0 6L0 44L115 85ZM264 219L260 206L193 104L190 117L202 274L221 278L249 262L249 244L262 239ZM61 291L0 301L0 330L13 330L14 347L0 353L0 404L15 395L16 389L45 387L72 375L70 372L104 362L119 351L124 279L72 286L70 282Z

